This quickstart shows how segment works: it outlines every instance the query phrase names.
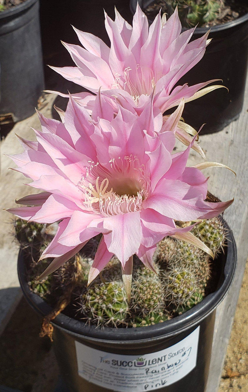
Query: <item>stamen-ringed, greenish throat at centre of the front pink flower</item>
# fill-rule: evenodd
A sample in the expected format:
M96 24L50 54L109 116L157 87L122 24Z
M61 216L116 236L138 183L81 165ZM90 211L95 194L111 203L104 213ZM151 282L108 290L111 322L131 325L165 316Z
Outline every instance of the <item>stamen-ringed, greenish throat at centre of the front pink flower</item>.
M85 207L103 216L139 211L150 189L143 166L132 156L109 163L110 170L91 162L86 177L78 183Z

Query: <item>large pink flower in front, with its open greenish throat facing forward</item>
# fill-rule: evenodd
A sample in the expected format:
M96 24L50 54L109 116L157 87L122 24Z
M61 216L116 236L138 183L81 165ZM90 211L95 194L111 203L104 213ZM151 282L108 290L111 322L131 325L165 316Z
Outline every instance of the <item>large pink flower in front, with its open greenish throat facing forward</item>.
M190 230L178 228L174 220L211 218L232 202L204 200L207 179L199 169L186 167L190 147L172 154L181 112L177 109L161 131L162 118L154 121L151 105L143 116L122 107L115 115L98 94L90 117L70 98L64 123L40 115L37 141L20 139L25 151L12 156L15 170L45 192L17 201L33 207L9 212L40 223L60 221L41 257L54 258L45 274L102 233L89 281L113 254L121 262L125 282L130 281L133 254L153 268L156 243Z

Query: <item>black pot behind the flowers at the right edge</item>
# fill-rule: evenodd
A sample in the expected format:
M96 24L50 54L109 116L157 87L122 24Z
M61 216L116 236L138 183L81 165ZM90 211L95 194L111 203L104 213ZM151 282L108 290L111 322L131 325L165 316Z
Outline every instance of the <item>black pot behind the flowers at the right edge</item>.
M153 2L154 0L139 0L139 5L145 9ZM136 5L137 0L130 0L132 13L135 12ZM197 27L192 40L203 36L208 30L208 27ZM242 110L248 65L248 13L232 22L212 27L208 38L212 38L212 42L206 48L202 60L177 83L188 83L190 86L221 79L229 90L228 93L226 89L218 89L186 103L183 112L185 122L197 130L206 123L201 134L220 131L236 120Z

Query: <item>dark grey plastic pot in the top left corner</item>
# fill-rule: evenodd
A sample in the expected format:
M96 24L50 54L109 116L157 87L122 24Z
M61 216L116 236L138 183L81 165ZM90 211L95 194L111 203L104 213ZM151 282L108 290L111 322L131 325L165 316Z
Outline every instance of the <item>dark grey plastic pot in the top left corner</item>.
M0 13L1 103L5 122L31 116L44 89L39 1Z

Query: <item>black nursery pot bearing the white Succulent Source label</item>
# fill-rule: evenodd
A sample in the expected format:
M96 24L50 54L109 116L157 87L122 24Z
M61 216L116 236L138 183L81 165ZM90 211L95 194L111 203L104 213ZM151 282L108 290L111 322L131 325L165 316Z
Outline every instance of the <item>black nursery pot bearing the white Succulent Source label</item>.
M140 328L96 328L60 314L54 349L70 392L203 392L208 378L215 309L228 292L237 262L229 227L225 255L216 261L215 292L174 319ZM25 298L42 316L51 307L27 284L24 253L18 276ZM216 386L217 387L217 386Z

